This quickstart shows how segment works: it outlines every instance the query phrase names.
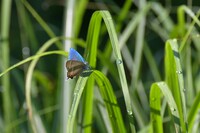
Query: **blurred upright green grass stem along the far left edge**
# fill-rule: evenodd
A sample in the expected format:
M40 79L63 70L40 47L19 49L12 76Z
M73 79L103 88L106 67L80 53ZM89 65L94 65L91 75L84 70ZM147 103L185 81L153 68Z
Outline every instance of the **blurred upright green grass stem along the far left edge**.
M7 69L10 65L10 19L11 19L11 11L12 11L12 1L11 0L2 0L1 1L1 12L0 12L0 64L2 65L2 69ZM3 86L2 93L2 104L3 104L3 117L5 121L5 131L9 124L16 119L16 112L14 110L13 103L13 95L11 93L11 85L10 85L10 75L6 75L1 79L1 85ZM13 93L14 94L14 93ZM14 129L19 132L19 129L16 127ZM13 130L13 131L14 131ZM13 132L9 131L9 132ZM9 133L8 132L8 133Z

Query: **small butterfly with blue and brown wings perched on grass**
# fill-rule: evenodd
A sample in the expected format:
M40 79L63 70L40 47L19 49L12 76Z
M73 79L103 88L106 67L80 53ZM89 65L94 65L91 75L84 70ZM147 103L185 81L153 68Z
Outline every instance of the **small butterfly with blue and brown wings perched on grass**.
M68 79L73 79L73 77L81 75L83 71L89 70L90 66L75 49L70 48L66 68Z

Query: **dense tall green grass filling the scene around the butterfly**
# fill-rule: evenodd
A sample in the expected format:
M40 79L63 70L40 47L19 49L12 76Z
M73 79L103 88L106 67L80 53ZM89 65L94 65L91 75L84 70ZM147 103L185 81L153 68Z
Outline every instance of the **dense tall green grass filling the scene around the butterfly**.
M180 5L172 12L159 2L135 9L127 0L88 17L85 0L71 3L74 19L63 19L74 22L72 36L63 37L33 3L1 4L0 132L200 130L199 11ZM10 24L15 10L18 22ZM84 49L90 74L67 79L66 47Z

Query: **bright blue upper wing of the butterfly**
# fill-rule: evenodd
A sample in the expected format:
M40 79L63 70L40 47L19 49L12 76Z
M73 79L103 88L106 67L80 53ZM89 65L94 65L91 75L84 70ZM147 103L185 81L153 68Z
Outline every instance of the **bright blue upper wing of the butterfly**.
M85 63L83 57L73 48L70 48L68 60L76 60Z

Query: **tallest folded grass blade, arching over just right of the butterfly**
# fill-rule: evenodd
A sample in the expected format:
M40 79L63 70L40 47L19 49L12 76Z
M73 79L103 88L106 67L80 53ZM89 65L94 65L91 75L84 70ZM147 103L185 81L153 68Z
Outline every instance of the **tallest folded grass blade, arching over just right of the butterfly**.
M94 57L96 57L97 40L98 40L98 36L99 36L99 28L101 25L102 18L106 24L106 27L107 27L107 30L109 33L109 37L110 37L111 44L113 47L113 52L114 52L115 59L117 62L118 72L120 75L122 90L123 90L123 93L125 96L124 98L125 98L125 103L126 103L126 107L127 107L127 112L131 119L130 125L131 125L131 128L134 130L134 125L132 123L133 122L133 113L132 113L132 108L131 108L131 100L130 100L127 81L126 81L126 77L125 77L123 61L121 58L121 53L120 53L119 46L118 46L117 34L116 34L116 31L114 28L112 17L108 11L96 11L92 16L92 19L90 21L89 30L88 30L91 32L89 32L88 36L87 36L88 46L86 49L86 53L87 53L86 57L89 58L88 62L93 67L96 64L96 58L94 58ZM92 88L92 83L90 83L90 84L91 84L90 88ZM91 92L89 94L91 95Z

